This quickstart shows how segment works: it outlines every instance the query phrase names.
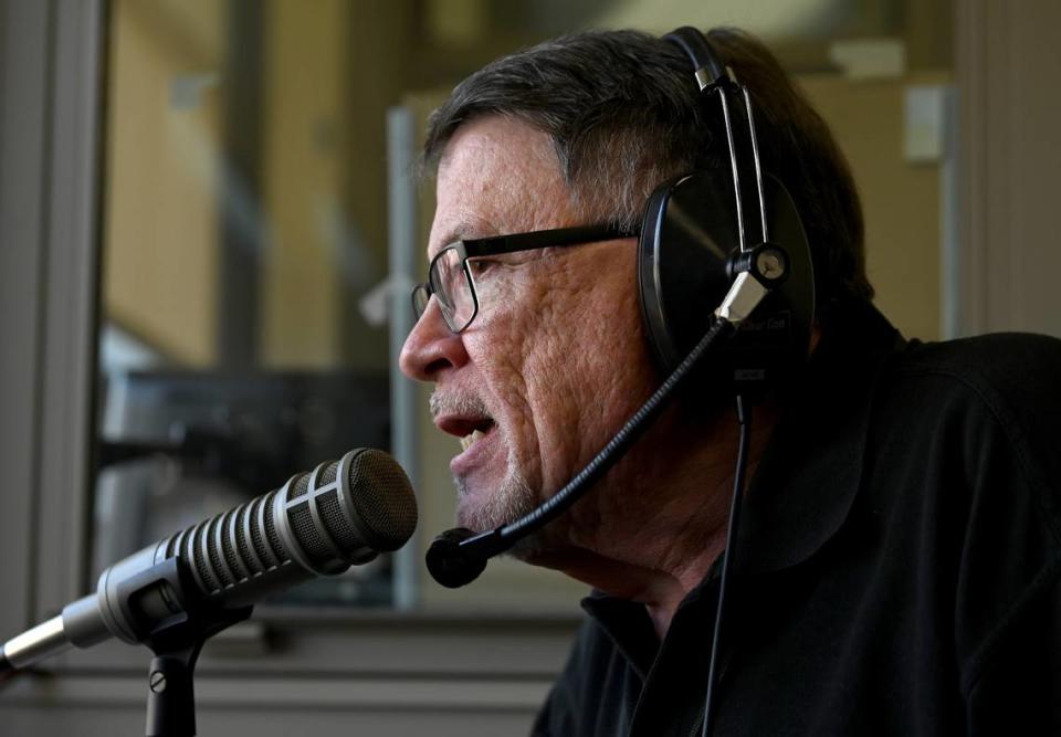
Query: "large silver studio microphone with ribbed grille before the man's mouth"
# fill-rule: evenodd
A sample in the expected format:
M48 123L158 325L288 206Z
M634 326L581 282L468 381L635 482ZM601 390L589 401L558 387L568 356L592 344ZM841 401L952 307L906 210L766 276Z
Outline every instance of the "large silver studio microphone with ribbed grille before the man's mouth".
M0 674L109 636L148 641L190 606L242 619L270 593L397 550L416 526L401 466L382 451L350 451L111 566L96 593L6 642Z

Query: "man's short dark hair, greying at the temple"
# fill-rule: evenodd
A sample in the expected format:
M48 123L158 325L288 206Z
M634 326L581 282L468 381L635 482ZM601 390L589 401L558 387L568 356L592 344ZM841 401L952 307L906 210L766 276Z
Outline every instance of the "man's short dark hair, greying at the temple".
M858 190L824 122L757 39L733 29L708 38L752 93L764 167L800 212L820 297L872 297ZM461 125L485 115L547 134L577 209L626 227L640 224L660 183L728 160L717 113L702 103L687 57L638 31L561 36L474 73L431 115L424 168L438 166Z

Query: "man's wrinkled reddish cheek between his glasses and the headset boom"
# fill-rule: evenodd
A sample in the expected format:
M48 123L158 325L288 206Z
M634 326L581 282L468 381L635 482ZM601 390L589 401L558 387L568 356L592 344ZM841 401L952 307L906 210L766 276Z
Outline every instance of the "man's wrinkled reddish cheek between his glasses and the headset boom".
M527 270L491 291L465 334L512 450L546 476L585 463L654 388L630 255Z

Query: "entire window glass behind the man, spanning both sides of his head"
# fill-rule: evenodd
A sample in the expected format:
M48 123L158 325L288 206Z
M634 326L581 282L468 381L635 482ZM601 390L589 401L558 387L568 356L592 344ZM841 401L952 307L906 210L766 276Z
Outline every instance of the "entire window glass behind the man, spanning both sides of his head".
M387 110L412 112L420 135L458 81L564 32L690 23L764 35L851 160L879 304L904 331L934 337L938 260L925 253L938 250L946 181L939 157L904 147L942 134L903 116L949 83L950 7L113 0L93 571L346 450L388 448L407 419L388 391ZM432 202L429 179L407 213L421 244ZM454 507L455 441L431 424L426 396L414 415L421 551ZM582 590L500 560L454 592L430 581L419 554L413 565L424 607L525 612ZM392 578L380 560L287 601L387 604Z

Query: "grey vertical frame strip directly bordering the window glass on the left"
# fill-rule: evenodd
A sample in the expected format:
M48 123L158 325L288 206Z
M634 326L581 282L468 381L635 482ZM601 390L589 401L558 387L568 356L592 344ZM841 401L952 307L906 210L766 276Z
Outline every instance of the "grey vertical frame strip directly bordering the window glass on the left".
M97 338L102 0L57 0L51 22L36 615L84 593Z

